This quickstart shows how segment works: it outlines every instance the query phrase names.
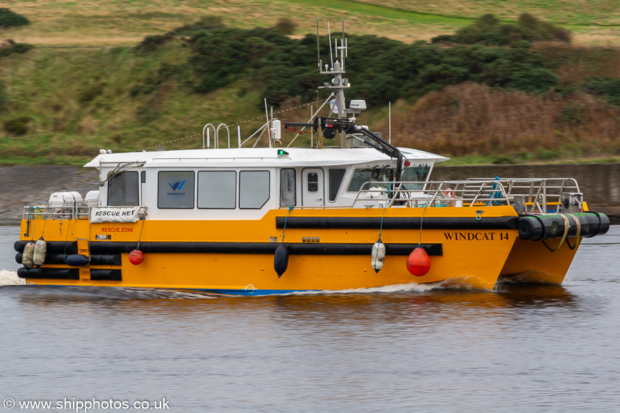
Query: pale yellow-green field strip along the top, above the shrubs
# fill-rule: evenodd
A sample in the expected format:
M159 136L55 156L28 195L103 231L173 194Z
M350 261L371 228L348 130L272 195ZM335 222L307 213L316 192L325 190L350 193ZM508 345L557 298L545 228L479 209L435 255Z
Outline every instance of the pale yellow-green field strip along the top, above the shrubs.
M566 25L577 44L620 45L616 0L8 0L2 4L32 21L25 28L3 31L3 38L37 45L133 45L147 34L212 15L239 28L268 27L286 17L297 23L299 36L316 30L317 17L334 25L344 17L347 32L411 43L453 32L485 13L515 21L523 12Z

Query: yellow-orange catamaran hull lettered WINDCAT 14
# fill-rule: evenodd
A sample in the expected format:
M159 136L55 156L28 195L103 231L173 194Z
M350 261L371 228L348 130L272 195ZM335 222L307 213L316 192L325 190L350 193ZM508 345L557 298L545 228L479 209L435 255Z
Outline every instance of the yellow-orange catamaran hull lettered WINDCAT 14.
M479 211L483 213L477 215ZM273 253L268 251L273 251L282 242L283 228L278 228L276 218L279 217L281 223L287 210L273 210L261 220L245 221L145 220L135 224L91 224L89 220L44 222L39 219L37 224L31 220L30 231L28 222L23 220L22 241L37 240L43 236L48 244L76 242L78 253L87 256L101 244L132 245L138 239L145 247L149 243L172 246L203 243L216 248L208 253L189 250L149 252L148 248L143 248L145 260L139 265L130 263L130 249L125 248L119 253L121 265L88 264L79 268L79 279L29 278L27 272L25 278L28 284L40 285L188 288L253 295L434 282L491 289L500 275L516 273L529 272L537 281L561 283L575 255L575 251L568 250L566 246L557 253L550 253L541 242L519 240L517 229L485 228L485 223L495 218L516 218L515 210L510 206L437 207L426 211L392 208L385 211L385 223L405 222L407 218L418 219L419 222L424 213L424 223L432 222L433 218L454 218L470 224L464 228L444 226L433 229L426 229L424 225L422 240L419 226L400 228L395 224L384 225L381 238L388 246L411 246L413 250L415 244L422 242L437 247L433 251L441 253L431 255L430 271L422 277L409 273L406 268L409 252L402 251L397 254L388 252L384 267L375 273L370 252L360 253L357 247L360 244L364 248L371 246L378 240L380 229L364 228L364 225L338 228L322 224L341 218L377 222L383 213L382 209L294 209L288 222L309 218L316 219L319 224L313 227L287 227L285 244L297 248L296 251L309 252L295 253L291 247L287 271L280 278L273 269ZM559 240L550 240L550 244L554 242ZM236 246L240 248L237 253L234 252ZM244 250L242 247L247 248ZM255 250L258 247L267 252L257 253ZM66 255L62 251L60 253ZM69 267L66 264L43 264L41 268ZM92 279L91 270L121 270L122 281Z

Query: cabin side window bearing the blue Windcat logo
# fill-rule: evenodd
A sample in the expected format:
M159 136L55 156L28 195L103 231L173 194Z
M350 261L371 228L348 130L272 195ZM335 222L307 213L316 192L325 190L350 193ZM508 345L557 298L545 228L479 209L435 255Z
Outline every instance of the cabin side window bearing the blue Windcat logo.
M158 180L158 208L194 208L194 171L160 171Z

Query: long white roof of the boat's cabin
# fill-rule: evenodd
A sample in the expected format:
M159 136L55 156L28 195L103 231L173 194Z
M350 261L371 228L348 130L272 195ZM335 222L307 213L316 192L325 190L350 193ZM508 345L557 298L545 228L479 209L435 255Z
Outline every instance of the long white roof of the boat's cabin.
M278 156L278 149L286 151L288 156ZM420 162L442 162L448 160L434 153L417 149L399 148L412 164ZM84 167L99 168L100 165L113 166L125 162L144 162L144 167L330 167L338 165L355 165L367 162L389 161L391 158L373 148L233 148L233 149L184 149L179 151L152 151L102 153Z

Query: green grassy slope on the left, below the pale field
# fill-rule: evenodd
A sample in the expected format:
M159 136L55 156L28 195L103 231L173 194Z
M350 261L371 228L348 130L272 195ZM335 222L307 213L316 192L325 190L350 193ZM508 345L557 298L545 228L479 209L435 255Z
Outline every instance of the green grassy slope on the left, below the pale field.
M206 95L165 82L152 94L132 96L132 87L156 76L163 64L186 58L187 49L178 45L154 54L117 47L33 50L4 58L0 79L8 85L10 107L0 114L0 162L81 164L99 148L135 151L198 134L169 147L196 148L206 123L232 125L261 116L256 103L262 94L242 81ZM23 119L25 134L6 131L7 120L14 119ZM244 133L259 124L245 124Z

